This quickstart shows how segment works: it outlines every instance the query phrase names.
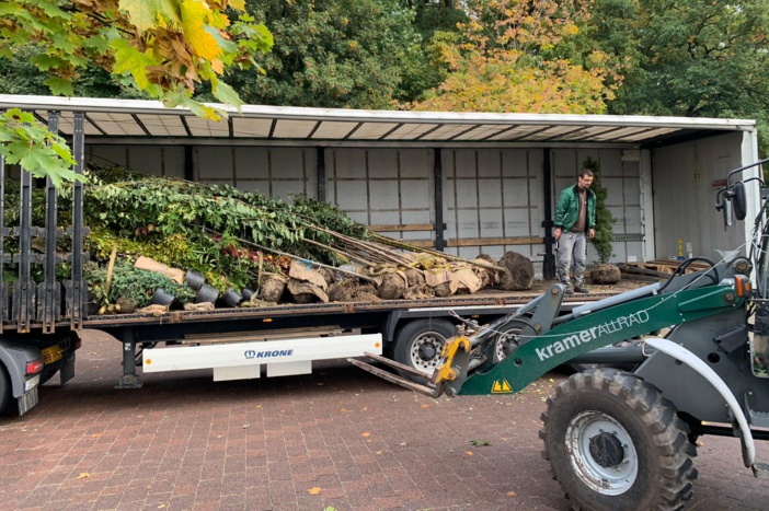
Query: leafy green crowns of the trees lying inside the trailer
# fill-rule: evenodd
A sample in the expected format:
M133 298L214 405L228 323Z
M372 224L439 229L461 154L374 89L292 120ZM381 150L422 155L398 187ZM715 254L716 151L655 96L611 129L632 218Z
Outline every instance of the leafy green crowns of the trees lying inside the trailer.
M314 222L340 225L347 235L366 232L338 209L303 197L290 205L231 186L148 177L119 167L95 172L94 181L85 211L88 223L100 227L92 236L101 240L92 251L97 257L118 240L120 253L203 272L215 268L240 287L250 283L261 260L248 242L336 264L333 252L306 242L333 244Z

